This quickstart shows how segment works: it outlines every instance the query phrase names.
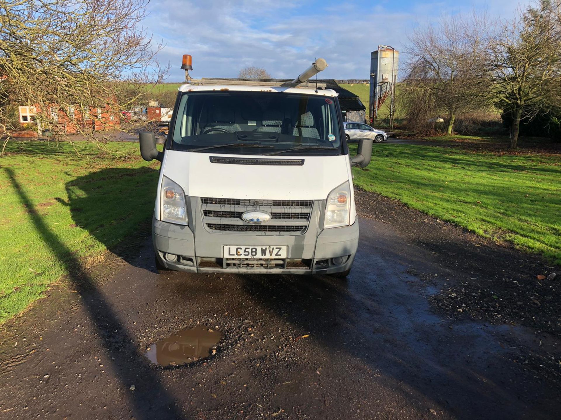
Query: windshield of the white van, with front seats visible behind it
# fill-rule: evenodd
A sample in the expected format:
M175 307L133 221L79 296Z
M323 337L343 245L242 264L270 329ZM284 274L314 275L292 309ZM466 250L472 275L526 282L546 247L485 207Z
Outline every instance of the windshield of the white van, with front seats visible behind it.
M185 92L171 148L244 155L341 155L329 96L283 92Z

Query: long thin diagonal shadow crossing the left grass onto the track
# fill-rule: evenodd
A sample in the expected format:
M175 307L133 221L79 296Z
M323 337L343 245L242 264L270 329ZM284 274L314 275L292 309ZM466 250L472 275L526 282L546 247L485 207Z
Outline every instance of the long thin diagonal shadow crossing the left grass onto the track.
M130 394L132 414L136 418L144 419L186 418L176 406L173 397L165 390L158 375L150 369L143 360L143 356L136 352L134 337L123 327L126 323L119 318L113 307L105 301L100 291L95 287L94 279L80 269L80 260L74 256L57 234L50 230L42 216L35 211L31 200L17 181L13 170L4 167L4 171L6 171L13 188L19 195L21 204L31 210L29 211L30 222L33 223L53 255L65 266L72 287L76 289L79 295L84 297L82 303L98 329L99 335L104 338L102 340L103 346L113 360L113 371L116 372L117 379L121 382L123 388L128 389L131 384L139 382L150 384L150 386L142 387L144 389L137 389ZM94 178L97 178L97 176L94 176ZM99 196L97 198L99 199ZM101 204L100 206L100 203L98 203L97 208L103 209L103 200ZM72 204L70 206L72 208ZM131 364L134 369L122 369L123 366L131 366Z

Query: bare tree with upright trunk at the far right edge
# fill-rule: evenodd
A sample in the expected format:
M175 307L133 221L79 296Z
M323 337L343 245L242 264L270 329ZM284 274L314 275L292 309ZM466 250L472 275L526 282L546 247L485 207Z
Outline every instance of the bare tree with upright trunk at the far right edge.
M520 122L561 100L561 0L540 0L513 20L490 45L498 105L511 113L511 147Z

